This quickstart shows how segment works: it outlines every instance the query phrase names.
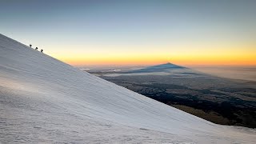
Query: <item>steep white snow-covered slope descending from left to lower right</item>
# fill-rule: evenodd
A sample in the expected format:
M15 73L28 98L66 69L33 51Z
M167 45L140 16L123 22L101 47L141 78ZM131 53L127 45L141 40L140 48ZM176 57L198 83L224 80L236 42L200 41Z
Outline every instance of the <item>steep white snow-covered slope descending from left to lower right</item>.
M0 142L256 143L0 34Z

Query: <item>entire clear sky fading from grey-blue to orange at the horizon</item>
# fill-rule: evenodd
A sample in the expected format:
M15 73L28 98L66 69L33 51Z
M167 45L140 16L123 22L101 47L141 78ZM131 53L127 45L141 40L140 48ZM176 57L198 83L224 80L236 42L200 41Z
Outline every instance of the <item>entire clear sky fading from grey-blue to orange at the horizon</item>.
M256 65L254 0L0 0L0 30L72 65Z

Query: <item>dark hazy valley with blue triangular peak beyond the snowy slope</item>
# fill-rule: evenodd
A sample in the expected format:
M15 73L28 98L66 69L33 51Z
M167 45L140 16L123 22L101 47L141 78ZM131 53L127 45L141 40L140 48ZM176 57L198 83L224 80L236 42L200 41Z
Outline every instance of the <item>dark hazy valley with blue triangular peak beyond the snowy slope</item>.
M92 74L210 122L256 127L256 89L250 82L186 68L149 69Z

